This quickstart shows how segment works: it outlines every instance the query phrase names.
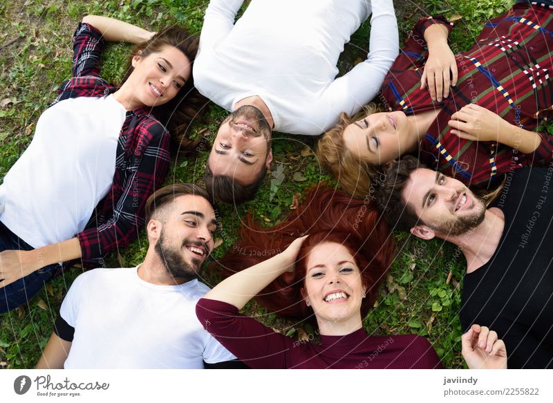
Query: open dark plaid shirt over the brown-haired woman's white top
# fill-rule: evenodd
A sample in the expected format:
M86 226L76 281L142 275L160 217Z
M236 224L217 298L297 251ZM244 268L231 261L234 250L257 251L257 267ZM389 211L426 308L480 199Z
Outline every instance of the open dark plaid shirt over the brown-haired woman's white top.
M73 77L62 84L52 105L68 98L103 97L118 89L99 76L103 46L99 31L89 24L79 24L73 35ZM143 106L126 112L113 185L84 231L77 234L84 267L104 265L106 254L138 237L144 225L146 200L167 174L169 133L150 111L150 107Z

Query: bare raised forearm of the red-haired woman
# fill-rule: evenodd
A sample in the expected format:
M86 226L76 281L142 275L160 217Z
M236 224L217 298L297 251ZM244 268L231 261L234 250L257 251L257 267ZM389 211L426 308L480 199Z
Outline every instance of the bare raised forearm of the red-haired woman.
M242 309L263 288L290 268L290 259L281 253L271 259L242 270L221 281L205 294L205 298L230 303Z

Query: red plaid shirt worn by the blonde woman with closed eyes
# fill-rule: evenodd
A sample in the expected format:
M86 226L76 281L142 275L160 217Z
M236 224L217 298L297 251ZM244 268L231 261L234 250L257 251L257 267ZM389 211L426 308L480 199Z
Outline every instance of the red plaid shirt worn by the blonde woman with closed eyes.
M528 3L516 4L506 15L485 24L476 44L456 56L457 85L449 97L433 102L420 90L428 57L424 30L432 24L451 24L441 16L421 19L384 80L382 95L389 106L411 115L440 109L420 142L420 160L476 188L494 187L512 169L548 165L553 161L553 138L538 133L542 142L523 154L496 142L473 142L451 134L448 121L463 106L483 106L511 124L533 130L553 109L552 11ZM453 48L453 50L455 50Z

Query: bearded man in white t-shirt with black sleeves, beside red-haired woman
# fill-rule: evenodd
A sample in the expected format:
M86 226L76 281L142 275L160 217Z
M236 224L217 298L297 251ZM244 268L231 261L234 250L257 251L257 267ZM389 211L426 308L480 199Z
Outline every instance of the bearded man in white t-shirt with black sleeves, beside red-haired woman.
M195 313L209 291L198 281L214 247L208 200L205 189L187 184L150 196L144 262L77 277L37 368L241 367Z

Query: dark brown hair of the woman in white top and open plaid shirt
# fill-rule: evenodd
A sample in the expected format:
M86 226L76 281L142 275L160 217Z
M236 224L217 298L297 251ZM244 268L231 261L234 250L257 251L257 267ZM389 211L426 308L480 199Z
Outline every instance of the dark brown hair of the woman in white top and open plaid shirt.
M163 46L174 46L180 50L190 61L191 68L194 67L196 53L198 53L199 39L196 35L190 35L185 28L171 26L160 30L148 41L137 44L131 50L126 73L121 80L124 83L133 73L133 57L140 55L147 57L151 53L159 52ZM160 121L171 135L171 149L182 155L197 153L203 139L191 140L188 138L191 123L194 120L203 120L207 109L207 98L200 95L194 87L194 77L191 74L185 86L180 88L177 95L160 106L154 106L151 113Z

